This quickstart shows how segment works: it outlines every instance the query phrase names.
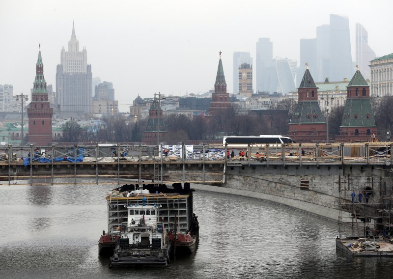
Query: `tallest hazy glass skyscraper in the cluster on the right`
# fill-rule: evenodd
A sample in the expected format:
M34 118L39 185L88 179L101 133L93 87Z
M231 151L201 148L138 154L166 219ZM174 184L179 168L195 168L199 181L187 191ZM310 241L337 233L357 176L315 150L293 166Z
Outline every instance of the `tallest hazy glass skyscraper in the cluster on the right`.
M331 81L349 78L353 73L349 21L345 16L330 15L330 74ZM326 75L325 75L326 76ZM322 81L322 80L320 80Z

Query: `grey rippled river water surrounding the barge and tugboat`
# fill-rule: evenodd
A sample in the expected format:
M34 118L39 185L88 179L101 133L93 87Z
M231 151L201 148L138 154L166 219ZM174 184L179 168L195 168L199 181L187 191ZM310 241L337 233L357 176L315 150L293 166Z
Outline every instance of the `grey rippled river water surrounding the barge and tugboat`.
M111 185L0 186L0 278L392 278L391 258L336 251L337 224L259 200L195 192L195 254L168 268L98 256Z

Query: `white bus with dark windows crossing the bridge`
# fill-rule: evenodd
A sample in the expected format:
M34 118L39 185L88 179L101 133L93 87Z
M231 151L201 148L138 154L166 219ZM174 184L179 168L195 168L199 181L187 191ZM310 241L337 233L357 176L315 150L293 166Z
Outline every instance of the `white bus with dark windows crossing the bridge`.
M291 138L280 135L260 135L258 136L229 136L224 137L223 144L287 144L295 142Z

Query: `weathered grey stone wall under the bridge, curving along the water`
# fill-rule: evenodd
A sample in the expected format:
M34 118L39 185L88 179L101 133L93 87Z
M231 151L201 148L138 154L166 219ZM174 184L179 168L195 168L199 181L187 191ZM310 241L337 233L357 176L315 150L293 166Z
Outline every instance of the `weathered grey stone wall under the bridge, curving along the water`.
M357 211L359 215L375 216L376 206L371 203L381 202L381 195L392 190L390 172L383 168L361 165L229 165L223 187L196 185L195 189L259 198L337 222L339 206L351 203L352 191L356 195L359 191L372 192L370 205L360 207L359 204ZM309 190L301 189L301 180L309 181ZM349 212L353 208L343 206L342 210Z

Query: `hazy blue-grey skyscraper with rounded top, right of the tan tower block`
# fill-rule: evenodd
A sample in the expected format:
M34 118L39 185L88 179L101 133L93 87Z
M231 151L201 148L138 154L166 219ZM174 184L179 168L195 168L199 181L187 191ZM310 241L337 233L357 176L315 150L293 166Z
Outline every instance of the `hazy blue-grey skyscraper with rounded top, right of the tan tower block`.
M275 82L271 79L271 75L274 75L275 69L272 69L274 68L273 43L269 38L259 38L256 42L255 66L256 91L274 91L277 87L277 80ZM274 89L271 90L271 88Z

